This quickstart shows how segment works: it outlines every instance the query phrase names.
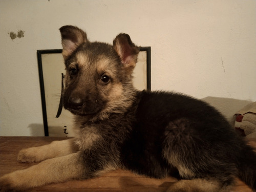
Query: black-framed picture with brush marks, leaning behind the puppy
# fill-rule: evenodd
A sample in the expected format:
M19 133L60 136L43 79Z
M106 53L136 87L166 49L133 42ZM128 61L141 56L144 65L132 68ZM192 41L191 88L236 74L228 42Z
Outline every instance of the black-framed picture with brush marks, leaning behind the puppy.
M151 47L140 47L134 69L134 85L138 90L151 90ZM65 78L62 49L37 50L45 136L74 136L73 114L63 109L61 91Z

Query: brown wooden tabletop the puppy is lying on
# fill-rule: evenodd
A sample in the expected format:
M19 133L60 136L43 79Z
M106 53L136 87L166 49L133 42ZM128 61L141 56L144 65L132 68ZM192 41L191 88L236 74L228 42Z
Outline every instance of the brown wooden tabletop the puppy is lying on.
M0 177L17 169L27 168L36 163L19 163L17 154L22 148L41 146L61 137L3 137L0 136ZM256 146L256 142L251 142ZM101 177L50 184L30 189L29 191L165 191L168 185L177 181L175 178L151 179L133 174L121 169L115 170ZM233 191L251 192L243 182L238 183Z

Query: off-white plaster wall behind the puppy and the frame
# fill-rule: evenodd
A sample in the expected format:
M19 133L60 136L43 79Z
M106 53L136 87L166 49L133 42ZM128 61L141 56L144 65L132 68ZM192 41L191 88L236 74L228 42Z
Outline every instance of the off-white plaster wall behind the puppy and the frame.
M1 0L0 135L44 135L36 50L60 49L63 25L151 46L152 90L255 101L255 0Z

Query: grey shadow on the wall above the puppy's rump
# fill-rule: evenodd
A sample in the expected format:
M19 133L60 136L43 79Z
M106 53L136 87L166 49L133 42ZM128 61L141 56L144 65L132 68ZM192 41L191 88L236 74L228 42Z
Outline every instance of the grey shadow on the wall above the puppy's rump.
M201 100L214 106L219 112L221 112L228 122L234 123L234 114L241 110L245 105L252 103L248 100L221 98L221 97L205 97Z

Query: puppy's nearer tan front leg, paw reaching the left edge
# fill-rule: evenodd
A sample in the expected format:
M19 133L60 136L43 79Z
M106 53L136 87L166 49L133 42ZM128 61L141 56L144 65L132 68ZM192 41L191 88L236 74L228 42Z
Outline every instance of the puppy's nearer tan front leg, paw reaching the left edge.
M86 171L80 152L77 152L6 174L0 178L0 190L25 190L49 183L82 179Z

